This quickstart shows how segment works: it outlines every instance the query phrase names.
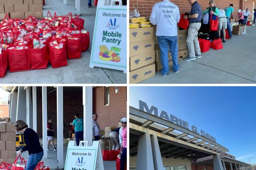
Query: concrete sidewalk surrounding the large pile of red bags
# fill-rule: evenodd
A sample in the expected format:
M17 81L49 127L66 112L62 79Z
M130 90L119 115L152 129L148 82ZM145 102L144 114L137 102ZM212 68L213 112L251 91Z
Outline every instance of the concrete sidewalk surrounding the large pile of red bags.
M90 48L82 52L81 58L68 59L67 66L55 69L50 64L46 69L40 70L10 73L8 69L5 77L0 78L0 82L3 84L125 84L126 74L123 71L89 67L97 7L87 8L87 3L88 0L81 0L81 18L85 20L84 29L90 32ZM44 17L47 11L50 11L52 16L55 12L58 16L69 12L75 14L75 0L67 0L67 5L63 5L63 0L45 0L43 11Z

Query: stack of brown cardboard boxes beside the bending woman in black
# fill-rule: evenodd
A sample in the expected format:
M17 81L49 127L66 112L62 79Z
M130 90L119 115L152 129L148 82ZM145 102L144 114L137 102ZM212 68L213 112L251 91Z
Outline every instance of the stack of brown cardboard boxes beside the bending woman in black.
M16 159L16 132L14 123L0 123L0 163L13 164Z

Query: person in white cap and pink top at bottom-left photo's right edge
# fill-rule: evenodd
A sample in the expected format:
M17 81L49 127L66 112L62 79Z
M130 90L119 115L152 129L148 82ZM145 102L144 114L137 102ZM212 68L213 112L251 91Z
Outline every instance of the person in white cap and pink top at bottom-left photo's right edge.
M120 119L121 128L119 130L119 140L122 146L122 154L120 158L120 170L125 170L125 163L127 163L127 119L123 117Z

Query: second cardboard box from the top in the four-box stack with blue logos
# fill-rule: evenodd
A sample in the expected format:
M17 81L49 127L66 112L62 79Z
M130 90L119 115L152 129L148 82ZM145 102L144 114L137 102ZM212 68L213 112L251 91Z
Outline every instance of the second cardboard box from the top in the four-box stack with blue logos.
M130 57L137 56L148 51L154 51L154 40L145 40L140 42L132 42L130 47Z

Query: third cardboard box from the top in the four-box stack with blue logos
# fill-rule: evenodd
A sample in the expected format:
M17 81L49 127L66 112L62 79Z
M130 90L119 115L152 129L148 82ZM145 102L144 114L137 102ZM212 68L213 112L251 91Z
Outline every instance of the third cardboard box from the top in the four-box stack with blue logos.
M150 51L148 53L130 57L130 71L141 68L145 65L149 65L153 62L155 62L155 51Z

